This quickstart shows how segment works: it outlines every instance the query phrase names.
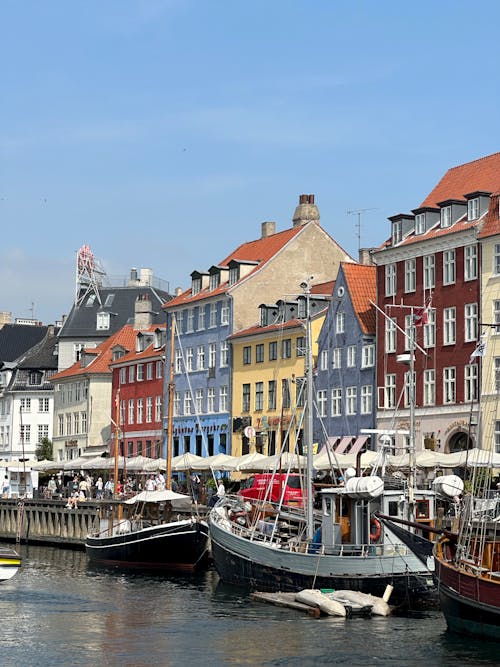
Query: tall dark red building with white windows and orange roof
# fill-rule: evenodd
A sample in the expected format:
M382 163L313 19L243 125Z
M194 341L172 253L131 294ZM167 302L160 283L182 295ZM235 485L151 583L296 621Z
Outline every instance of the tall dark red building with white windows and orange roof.
M450 169L412 215L389 218L377 264L378 428L408 431L415 387L415 446L442 452L474 442L479 370L478 232L500 186L500 153ZM413 382L410 335L415 341ZM405 447L407 436L395 436Z

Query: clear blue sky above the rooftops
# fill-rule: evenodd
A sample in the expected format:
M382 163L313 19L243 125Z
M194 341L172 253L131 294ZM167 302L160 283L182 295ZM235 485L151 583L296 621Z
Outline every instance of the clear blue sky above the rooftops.
M75 253L186 288L314 193L357 258L500 150L500 2L2 0L0 310L68 313ZM348 211L363 211L348 214ZM32 305L33 304L33 305Z

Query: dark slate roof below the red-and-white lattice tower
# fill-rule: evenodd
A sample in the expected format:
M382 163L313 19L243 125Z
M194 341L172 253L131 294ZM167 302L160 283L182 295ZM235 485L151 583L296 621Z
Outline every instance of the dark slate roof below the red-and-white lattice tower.
M160 289L152 287L102 287L99 290L102 306L97 299L94 299L91 305L89 296L86 296L80 305L74 304L71 311L64 321L59 332L59 338L108 338L117 331L120 331L126 324L133 324L135 313L135 302L138 296L149 295L153 309L153 324L164 324L165 314L162 311L162 305L170 301L172 296ZM108 296L113 299L106 306ZM96 321L98 312L109 312L111 314L109 329L96 330Z

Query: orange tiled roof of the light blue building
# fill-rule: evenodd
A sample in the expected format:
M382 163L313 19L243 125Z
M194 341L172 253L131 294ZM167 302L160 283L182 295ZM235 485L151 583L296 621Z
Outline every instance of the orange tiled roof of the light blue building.
M292 227L290 229L285 229L282 232L277 232L276 234L271 234L264 238L256 239L255 241L248 241L247 243L242 243L234 252L228 255L222 262L219 262L217 266L227 267L229 262L234 259L235 261L244 261L244 262L257 262L256 266L248 275L251 275L257 271L263 264L268 262L276 253L281 250L290 239L300 234L304 229L305 225ZM245 276L245 278L247 277ZM217 287L217 289L210 290L205 288L198 292L195 296L191 295L191 287L187 289L179 296L174 297L171 301L168 301L163 305L164 308L177 308L180 305L186 303L192 303L194 301L199 301L200 299L205 299L207 296L215 296L217 294L223 294L228 287L228 281L222 283Z

